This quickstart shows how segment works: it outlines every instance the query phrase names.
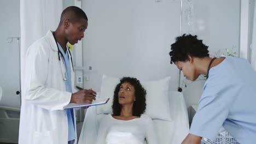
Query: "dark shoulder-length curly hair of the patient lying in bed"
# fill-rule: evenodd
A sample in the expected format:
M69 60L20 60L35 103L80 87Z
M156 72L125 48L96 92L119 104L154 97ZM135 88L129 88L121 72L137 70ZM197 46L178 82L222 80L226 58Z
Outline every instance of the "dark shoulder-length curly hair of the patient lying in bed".
M134 77L123 77L120 79L120 83L115 87L114 99L112 105L113 116L120 116L122 105L118 101L118 92L121 84L128 82L135 88L135 98L136 100L133 103L132 115L141 116L146 110L146 90L142 87L139 80Z

